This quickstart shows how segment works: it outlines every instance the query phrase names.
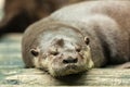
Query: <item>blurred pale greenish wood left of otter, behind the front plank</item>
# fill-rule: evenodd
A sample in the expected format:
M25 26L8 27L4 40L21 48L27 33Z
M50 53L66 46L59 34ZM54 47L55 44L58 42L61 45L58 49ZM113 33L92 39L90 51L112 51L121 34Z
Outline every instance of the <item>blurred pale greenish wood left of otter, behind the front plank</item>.
M22 67L22 34L10 34L0 38L0 67Z

